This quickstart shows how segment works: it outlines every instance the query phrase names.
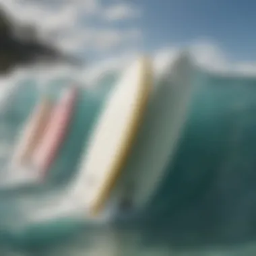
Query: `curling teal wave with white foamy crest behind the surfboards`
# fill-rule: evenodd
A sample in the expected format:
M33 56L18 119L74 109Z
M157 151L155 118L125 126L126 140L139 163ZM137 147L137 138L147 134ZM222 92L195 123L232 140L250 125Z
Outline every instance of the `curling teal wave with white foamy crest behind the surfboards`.
M175 102L180 94L183 95L183 91L173 91L173 103L168 104L168 107L180 110L175 110L173 115L185 115L169 134L176 141L172 157L167 154L168 161L162 167L162 179L158 182L157 189L152 179L148 180L148 189L145 186L145 190L139 192L141 201L142 198L150 197L146 208L139 214L131 214L129 222L127 218L125 221L129 224L134 222L137 226L139 224L135 220L143 220L145 224L150 221L150 226L156 230L172 230L172 242L179 241L184 245L192 243L191 237L195 233L197 237L193 238L193 243L220 242L218 238L225 241L231 239L234 229L240 232L236 241L239 238L242 241L243 238L252 237L249 223L254 221L249 205L249 199L255 193L250 182L255 169L253 152L256 142L253 133L256 102L254 69L245 73L245 69L238 68L241 65L228 65L226 61L219 65L220 58L212 60L216 58L212 53L213 49L209 50L205 46L206 50L203 51L210 55L207 60L207 54L203 54L203 51L199 54L195 48L189 48L193 66L193 78L187 82L191 88L187 94L189 98ZM176 49L164 49L153 56L155 90L168 83L163 78L166 73L170 77L173 75L174 63L181 57L181 52L183 53ZM19 70L12 77L1 80L0 147L5 148L5 152L2 150L3 154L0 155L3 166L0 228L5 230L5 238L0 240L6 241L8 238L16 241L15 243L32 243L37 239L42 242L42 237L51 232L55 232L53 236L57 237L79 230L81 226L88 230L91 230L91 226L102 227L109 224L109 220L113 221L113 216L115 223L125 222L125 216L117 210L117 198L110 201L103 216L93 221L86 220L84 206L79 204L81 200L75 201L69 193L70 187L64 185L75 174L85 146L84 141L88 141L104 100L133 58L134 56L124 56L110 59L82 70L72 70L69 67L60 67L58 70L49 67L49 70L43 71L34 69L29 73ZM50 92L56 97L59 90L70 83L79 85L82 93L77 101L71 131L61 148L60 156L49 171L46 183L34 183L34 174L26 170L9 172L6 162L13 153L18 130L30 115L40 94ZM183 101L187 107L181 111L185 106ZM143 129L141 134L143 135ZM30 184L18 184L21 180L22 183L29 180ZM238 197L237 203L234 203L234 195ZM219 210L216 210L216 205L220 205ZM243 212L238 211L240 215L232 213L232 210L237 212L239 205L243 205ZM220 224L228 220L225 211L232 216L232 220L224 225L228 231L225 237L220 238L218 236L224 229ZM207 212L205 220L200 217L202 212ZM247 225L243 226L242 222ZM205 233L205 226L209 232Z

